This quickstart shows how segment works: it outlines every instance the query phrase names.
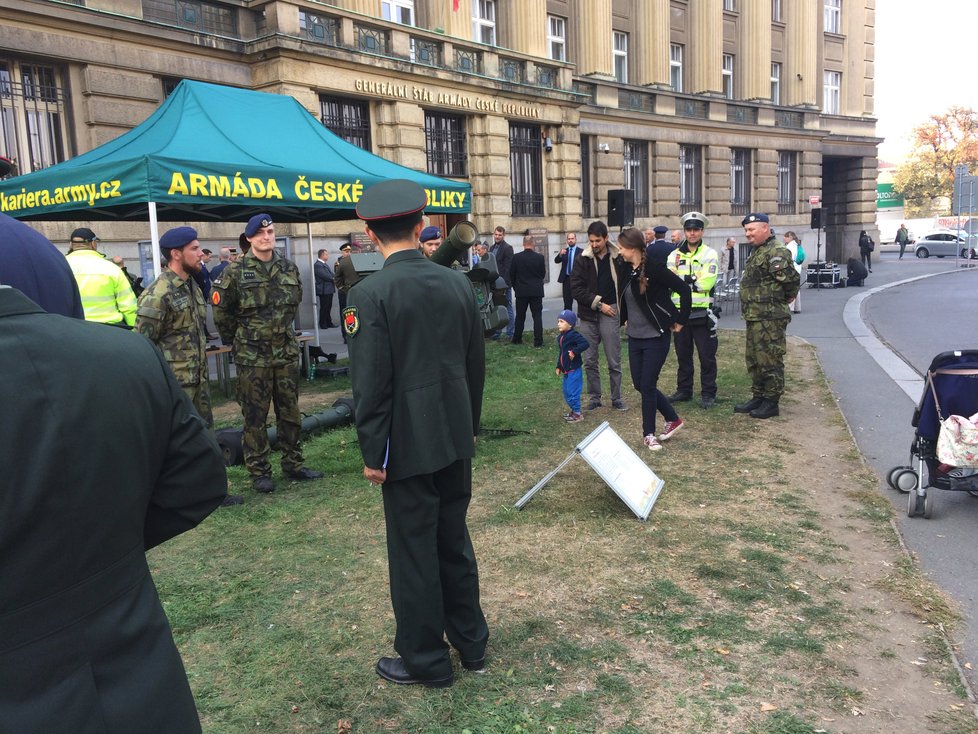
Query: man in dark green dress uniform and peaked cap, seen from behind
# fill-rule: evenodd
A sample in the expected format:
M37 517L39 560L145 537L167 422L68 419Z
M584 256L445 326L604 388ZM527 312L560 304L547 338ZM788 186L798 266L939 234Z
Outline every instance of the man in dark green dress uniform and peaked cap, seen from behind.
M446 687L454 679L449 643L463 668L481 671L489 639L465 523L485 346L468 280L418 251L426 203L410 181L364 193L357 214L384 267L350 291L342 321L363 473L383 487L387 522L400 657L382 657L377 673Z

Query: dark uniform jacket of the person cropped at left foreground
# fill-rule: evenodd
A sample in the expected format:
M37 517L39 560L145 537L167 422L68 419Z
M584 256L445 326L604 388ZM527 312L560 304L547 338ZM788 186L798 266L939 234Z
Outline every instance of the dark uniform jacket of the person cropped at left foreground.
M227 492L160 353L0 287L0 732L199 732L145 550Z

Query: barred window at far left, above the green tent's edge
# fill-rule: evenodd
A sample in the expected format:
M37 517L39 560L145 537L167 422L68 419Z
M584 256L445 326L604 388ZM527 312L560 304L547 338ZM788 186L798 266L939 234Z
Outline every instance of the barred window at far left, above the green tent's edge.
M0 155L14 173L65 160L68 139L62 70L0 59Z

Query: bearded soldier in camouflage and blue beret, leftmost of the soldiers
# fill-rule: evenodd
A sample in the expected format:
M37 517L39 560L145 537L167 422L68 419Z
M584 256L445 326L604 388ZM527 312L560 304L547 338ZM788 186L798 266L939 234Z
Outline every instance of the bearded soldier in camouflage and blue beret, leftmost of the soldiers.
M200 243L192 227L177 227L160 237L167 267L143 291L136 309L135 330L159 347L177 382L190 396L208 428L214 425L207 371L207 306L194 272L201 267ZM222 506L240 505L229 494Z

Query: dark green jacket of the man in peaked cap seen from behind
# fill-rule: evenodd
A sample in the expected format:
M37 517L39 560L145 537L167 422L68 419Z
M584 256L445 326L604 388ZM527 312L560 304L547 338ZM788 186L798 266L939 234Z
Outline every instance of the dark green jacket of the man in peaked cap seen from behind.
M485 341L468 279L404 250L360 281L348 303L344 322L357 321L349 345L363 463L386 466L396 481L472 458ZM422 304L424 320L407 303Z

